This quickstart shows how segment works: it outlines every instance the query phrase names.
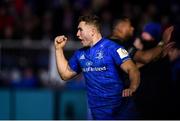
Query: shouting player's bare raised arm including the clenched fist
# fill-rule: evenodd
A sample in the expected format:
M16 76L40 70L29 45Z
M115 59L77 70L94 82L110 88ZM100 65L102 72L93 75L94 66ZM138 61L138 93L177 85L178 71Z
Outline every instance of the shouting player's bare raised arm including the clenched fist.
M69 67L68 61L64 56L63 48L66 45L66 42L67 37L64 35L57 36L54 40L57 69L63 80L69 80L76 75L76 72Z

